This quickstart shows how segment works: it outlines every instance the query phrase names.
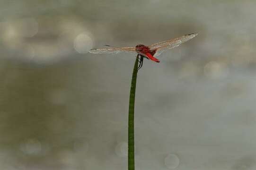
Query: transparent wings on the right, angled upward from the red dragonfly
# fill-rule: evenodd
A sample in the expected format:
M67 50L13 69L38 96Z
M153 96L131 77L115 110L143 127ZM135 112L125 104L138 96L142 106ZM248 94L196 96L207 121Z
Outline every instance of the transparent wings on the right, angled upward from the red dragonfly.
M164 41L164 42L158 42L155 44L152 44L149 46L151 50L157 50L154 56L159 56L163 51L166 51L168 49L175 48L179 46L181 43L186 42L190 40L191 38L194 38L198 33L193 34L185 34L181 37Z

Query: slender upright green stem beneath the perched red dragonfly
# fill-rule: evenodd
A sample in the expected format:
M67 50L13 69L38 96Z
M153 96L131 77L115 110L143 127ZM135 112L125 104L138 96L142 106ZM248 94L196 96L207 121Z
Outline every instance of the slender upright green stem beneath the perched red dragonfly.
M137 56L133 72L132 72L132 84L129 99L129 119L128 119L128 170L135 170L134 166L134 102L135 102L135 90L136 80L138 73L138 59Z

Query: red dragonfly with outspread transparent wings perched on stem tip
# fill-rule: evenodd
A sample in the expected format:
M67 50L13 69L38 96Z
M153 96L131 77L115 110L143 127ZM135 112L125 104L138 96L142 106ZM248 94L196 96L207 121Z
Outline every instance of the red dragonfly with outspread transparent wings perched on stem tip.
M192 38L194 38L198 33L192 33L192 34L185 34L181 37L154 43L152 45L146 46L143 44L136 45L135 47L112 47L110 45L105 45L106 48L102 49L91 49L88 52L94 53L94 54L103 54L103 53L119 53L119 52L129 52L137 54L137 57L139 58L139 66L138 70L142 68L143 65L143 59L149 59L154 62L160 62L159 59L155 58L159 56L162 52L175 48L179 46L181 43L186 42Z

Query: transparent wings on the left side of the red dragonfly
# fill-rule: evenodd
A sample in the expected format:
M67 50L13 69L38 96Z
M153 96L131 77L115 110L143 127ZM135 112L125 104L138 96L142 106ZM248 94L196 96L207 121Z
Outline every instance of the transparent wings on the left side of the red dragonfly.
M88 52L94 54L103 54L103 53L119 53L119 52L130 52L130 53L137 53L135 51L135 47L110 47L103 49L91 49Z

